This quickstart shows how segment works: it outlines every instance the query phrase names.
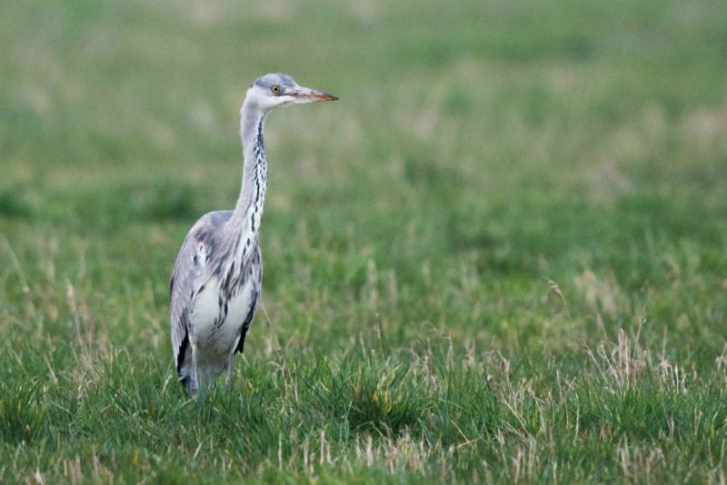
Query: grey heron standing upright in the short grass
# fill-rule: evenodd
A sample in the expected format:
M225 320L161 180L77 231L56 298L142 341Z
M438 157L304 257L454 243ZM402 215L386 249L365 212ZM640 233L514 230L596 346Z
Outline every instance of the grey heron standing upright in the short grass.
M338 98L295 83L287 74L265 74L251 84L240 109L243 180L232 211L204 214L187 233L170 280L172 349L177 376L196 398L207 382L227 371L232 389L233 362L260 299L263 256L260 223L267 188L263 140L265 117L287 104Z

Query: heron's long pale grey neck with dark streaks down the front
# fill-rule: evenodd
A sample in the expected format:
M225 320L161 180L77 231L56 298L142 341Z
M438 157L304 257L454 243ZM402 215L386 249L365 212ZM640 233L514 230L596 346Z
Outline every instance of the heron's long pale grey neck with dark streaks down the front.
M263 141L265 113L245 101L240 110L240 135L243 139L243 185L234 207L234 226L241 237L257 238L263 218L267 188L267 159Z

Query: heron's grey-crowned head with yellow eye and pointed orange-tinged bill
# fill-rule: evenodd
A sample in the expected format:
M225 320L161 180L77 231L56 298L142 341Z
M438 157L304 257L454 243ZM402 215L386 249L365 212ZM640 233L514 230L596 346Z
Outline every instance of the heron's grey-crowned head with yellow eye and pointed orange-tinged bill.
M245 103L251 102L264 111L269 111L285 104L335 101L337 99L333 94L299 86L291 76L278 73L265 74L258 78L247 90Z

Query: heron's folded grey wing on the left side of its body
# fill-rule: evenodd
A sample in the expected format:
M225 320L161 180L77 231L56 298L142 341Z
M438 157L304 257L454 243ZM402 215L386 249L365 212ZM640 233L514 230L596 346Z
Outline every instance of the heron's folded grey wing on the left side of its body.
M207 260L214 250L214 234L230 219L230 211L205 214L184 238L169 282L171 298L172 349L177 371L182 367L188 345L189 310L194 291L207 277Z

